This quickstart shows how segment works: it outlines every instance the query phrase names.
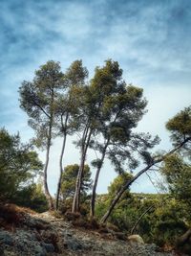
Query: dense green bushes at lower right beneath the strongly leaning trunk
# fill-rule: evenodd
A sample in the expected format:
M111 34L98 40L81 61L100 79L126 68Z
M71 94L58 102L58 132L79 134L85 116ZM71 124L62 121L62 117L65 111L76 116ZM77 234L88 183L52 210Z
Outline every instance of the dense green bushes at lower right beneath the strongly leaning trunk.
M101 219L108 208L108 195L99 196L96 216ZM146 243L173 245L191 223L189 211L179 201L168 195L133 194L120 200L112 212L109 222L130 234L141 214L150 206L153 208L141 219L135 230Z

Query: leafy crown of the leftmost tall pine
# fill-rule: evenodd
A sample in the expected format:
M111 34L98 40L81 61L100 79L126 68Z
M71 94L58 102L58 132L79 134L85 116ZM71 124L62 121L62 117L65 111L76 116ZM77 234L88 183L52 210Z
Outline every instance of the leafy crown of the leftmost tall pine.
M64 88L64 76L59 62L47 61L35 71L33 81L23 81L19 88L20 106L29 116L29 125L36 136L37 147L47 147L55 135L54 119L58 92Z

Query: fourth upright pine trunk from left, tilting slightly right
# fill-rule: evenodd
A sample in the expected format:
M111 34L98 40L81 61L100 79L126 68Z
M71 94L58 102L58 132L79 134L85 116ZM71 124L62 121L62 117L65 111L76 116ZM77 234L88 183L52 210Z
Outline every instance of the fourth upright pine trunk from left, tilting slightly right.
M95 216L96 186L97 186L98 177L99 177L99 174L100 174L100 171L101 171L101 168L103 166L104 159L105 159L105 154L106 154L106 150L107 150L107 147L108 147L108 144L109 144L109 140L110 139L108 138L108 140L105 144L105 147L103 149L103 152L102 152L100 164L99 164L98 168L96 169L96 177L95 177L95 182L94 182L94 185L93 185L93 194L92 194L92 198L91 198L91 209L90 209L90 216L91 217Z

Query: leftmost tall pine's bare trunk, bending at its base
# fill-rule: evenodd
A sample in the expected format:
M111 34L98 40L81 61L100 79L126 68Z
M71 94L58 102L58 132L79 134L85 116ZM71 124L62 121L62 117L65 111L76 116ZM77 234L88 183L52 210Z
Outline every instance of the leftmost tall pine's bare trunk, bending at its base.
M44 166L44 190L45 190L45 196L49 203L49 210L53 210L53 198L49 192L49 187L47 183L47 170L49 166L50 148L51 148L51 137L48 138L47 153L46 153L46 160L45 160L45 166Z

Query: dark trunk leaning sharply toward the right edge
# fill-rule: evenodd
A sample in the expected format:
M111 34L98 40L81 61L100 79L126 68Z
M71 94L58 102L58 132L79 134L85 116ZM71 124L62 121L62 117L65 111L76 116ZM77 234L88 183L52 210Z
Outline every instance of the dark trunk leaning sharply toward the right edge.
M177 146L175 149L173 149L172 151L169 151L168 153L166 153L165 155L163 155L162 157L160 157L157 160L154 160L152 164L146 166L144 169L142 169L140 172L138 172L137 175L135 175L134 177L132 177L131 180L129 180L125 185L123 185L120 190L117 192L116 197L113 199L113 201L111 202L111 205L109 206L109 209L107 210L107 212L105 213L105 215L103 216L103 218L101 219L101 222L104 223L108 220L108 218L110 217L113 209L115 208L119 198L122 196L122 194L131 186L131 184L138 179L138 177L140 175L143 175L146 171L148 171L151 167L153 167L155 164L158 164L160 162L162 162L165 157L167 157L168 155L174 153L175 151L178 151L185 143L187 143L188 141L191 140L191 137L185 139L182 143L180 143L179 146Z

